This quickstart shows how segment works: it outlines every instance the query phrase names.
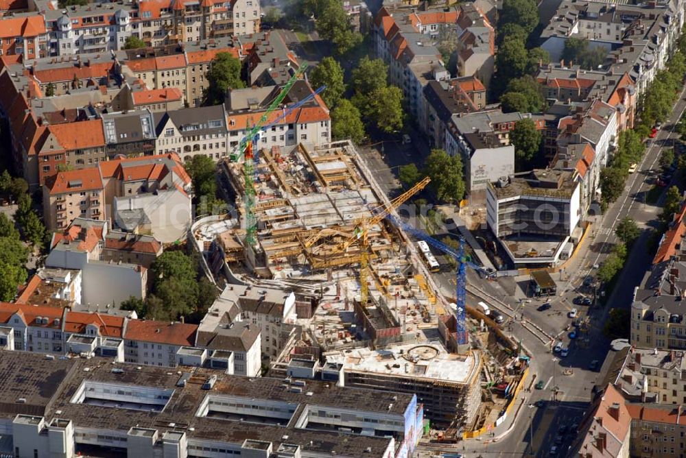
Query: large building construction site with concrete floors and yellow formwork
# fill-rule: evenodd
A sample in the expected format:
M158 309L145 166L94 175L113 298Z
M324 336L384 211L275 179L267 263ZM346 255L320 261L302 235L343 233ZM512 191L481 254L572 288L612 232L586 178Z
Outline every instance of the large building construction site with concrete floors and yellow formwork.
M454 329L440 332L447 305L436 294L416 244L402 230L381 219L368 226L366 248L346 244L360 221L392 206L352 143L274 147L256 156L255 248L246 246L240 224L245 189L238 162L220 165L237 215L196 224L193 236L213 274L224 274L229 282L289 289L300 300L316 303L311 313L298 314L300 338L272 364L303 354L342 363L346 383L409 390L418 394L436 427L471 429L484 415L482 401L490 398L484 367L492 367L493 358L476 341L457 354ZM365 304L359 280L363 249L368 257ZM417 361L403 355L418 352L417 346L436 354L427 358L427 350Z

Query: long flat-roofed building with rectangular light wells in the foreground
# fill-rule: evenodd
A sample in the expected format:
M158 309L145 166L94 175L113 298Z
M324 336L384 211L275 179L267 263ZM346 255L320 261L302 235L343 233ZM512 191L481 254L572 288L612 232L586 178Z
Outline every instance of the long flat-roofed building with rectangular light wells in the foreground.
M410 456L423 435L412 394L111 361L3 352L3 406L27 400L0 411L11 453L392 458Z

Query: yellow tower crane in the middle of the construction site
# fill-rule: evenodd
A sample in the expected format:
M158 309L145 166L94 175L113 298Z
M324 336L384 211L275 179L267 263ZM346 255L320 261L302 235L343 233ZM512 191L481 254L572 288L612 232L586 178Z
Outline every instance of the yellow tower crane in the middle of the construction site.
M352 234L346 234L347 239L344 239L340 245L336 246L335 249L333 250L334 254L344 254L348 248L351 247L354 243L359 243L360 245L360 252L359 252L359 286L360 286L360 304L362 306L366 306L367 304L367 298L368 298L368 293L369 289L367 286L367 266L368 266L368 232L372 226L375 226L375 224L379 224L384 218L387 216L391 215L392 211L401 206L403 202L405 202L407 199L424 189L427 184L431 182L431 178L426 177L414 186L412 186L411 189L408 191L405 191L405 193L402 193L398 197L396 197L394 200L392 200L388 205L379 205L377 208L372 209L372 216L371 217L366 217L366 218L361 218L355 221L355 228L353 229ZM322 237L325 237L329 234L341 234L338 231L331 230L329 229L322 229L320 232L317 234L314 234L312 237L307 239L304 243L306 249L314 245L316 241L321 239ZM351 258L349 261L350 263L357 261L355 258ZM330 267L329 265L324 265L322 267Z

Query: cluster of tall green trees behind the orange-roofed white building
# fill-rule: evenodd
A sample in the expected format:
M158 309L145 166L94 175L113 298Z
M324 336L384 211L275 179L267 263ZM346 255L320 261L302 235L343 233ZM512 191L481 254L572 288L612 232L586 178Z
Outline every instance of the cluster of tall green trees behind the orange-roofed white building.
M403 93L388 84L388 66L383 60L362 58L346 88L340 64L333 58L323 58L311 71L309 81L314 88L327 86L322 99L331 109L333 138L351 138L360 143L366 135L365 125L384 133L403 128ZM345 97L346 91L353 94L350 99Z

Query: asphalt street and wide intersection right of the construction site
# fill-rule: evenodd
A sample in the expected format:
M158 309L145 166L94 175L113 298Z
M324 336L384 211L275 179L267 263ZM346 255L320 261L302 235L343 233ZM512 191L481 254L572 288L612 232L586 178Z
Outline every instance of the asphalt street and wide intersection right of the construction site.
M646 204L645 196L652 187L652 176L661 149L671 147L672 141L678 138L672 130L686 109L683 96L684 93L679 97L663 130L659 131L646 149L637 171L629 176L622 195L604 215L595 217L592 232L578 254L566 266L564 272L556 274L558 295L551 298L550 309L543 312L536 310L545 299L532 300L529 304L523 301L528 278L486 281L474 272L468 272L468 284L472 290L467 297L468 304L484 300L508 317L514 317L503 326L512 339L521 341L523 348L532 355L532 374L536 374L537 380L542 379L545 386L541 390L532 389L530 393L524 393L524 398L517 400L521 403L517 421L513 424L511 419L506 420L494 429L493 438L469 439L447 450L457 449L467 455L476 453L497 457L527 455L533 450L536 456L547 456L551 448L556 446L556 450L560 450L560 455L564 456L573 434L567 432L558 437L560 426L571 426L580 422L585 409L589 406L593 385L602 381L605 376L599 369L609 350L609 341L602 335L608 311L613 307L630 306L633 290L641 282L652 261L646 249L648 229L654 226L661 212L664 192L657 204ZM397 180L399 166L411 162L421 166L423 158L429 152L428 145L418 135L414 134L412 140L412 145L385 142L383 157L380 145L375 145L374 148L360 148L368 167L376 174L379 184L389 195L399 192L401 187ZM615 228L627 215L635 219L639 228L643 228L643 232L628 254L625 268L617 279L606 306L589 307L573 304L574 297L589 293L589 289L583 285L584 278L593 276L595 268L602 264L612 245L617 243ZM418 222L412 221L412 224ZM441 234L437 234L436 237L440 239ZM451 297L455 295L454 272L434 274L434 280L443 294ZM475 294L475 290L480 292ZM573 308L578 309L582 317L590 317L587 348L579 348L578 342L569 338L569 333L565 331L573 321L567 317L567 313ZM563 341L569 348L569 355L563 358L554 353L552 341L547 336ZM598 367L591 370L589 365L596 360ZM565 375L565 372L568 375ZM540 407L535 406L537 401L543 401L539 402ZM530 448L531 439L533 449ZM431 450L431 453L435 452L435 446L427 445L427 453Z

